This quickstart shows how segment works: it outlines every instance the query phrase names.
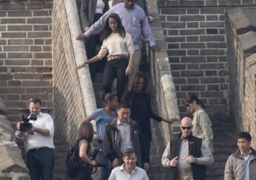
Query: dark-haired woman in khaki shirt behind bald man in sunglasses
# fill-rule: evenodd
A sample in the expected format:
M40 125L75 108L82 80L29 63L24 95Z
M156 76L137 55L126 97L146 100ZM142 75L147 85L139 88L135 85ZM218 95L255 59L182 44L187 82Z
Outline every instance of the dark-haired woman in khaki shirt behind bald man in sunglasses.
M211 120L203 109L205 106L203 102L198 99L195 94L189 94L184 101L186 107L193 113L193 136L199 137L206 141L211 152L214 152L212 141L213 141L213 132L211 129Z

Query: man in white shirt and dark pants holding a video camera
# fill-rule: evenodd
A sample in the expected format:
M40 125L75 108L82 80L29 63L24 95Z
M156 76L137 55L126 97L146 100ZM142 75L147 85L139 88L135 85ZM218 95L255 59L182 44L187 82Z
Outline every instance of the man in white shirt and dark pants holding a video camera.
M27 167L31 180L52 180L54 155L53 155L53 118L41 112L41 99L29 100L30 116L22 118L17 123L15 136L24 140L27 152ZM36 118L31 118L36 115ZM24 121L29 119L29 122ZM36 120L36 121L35 121Z

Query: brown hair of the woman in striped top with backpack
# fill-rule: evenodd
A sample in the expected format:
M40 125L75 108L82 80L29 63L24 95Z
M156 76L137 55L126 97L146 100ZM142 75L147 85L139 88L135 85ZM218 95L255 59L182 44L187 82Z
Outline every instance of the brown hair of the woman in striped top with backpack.
M92 142L92 138L93 138L93 134L94 134L94 130L92 127L92 123L90 122L83 122L79 128L78 131L78 141L81 140L86 140L89 143Z

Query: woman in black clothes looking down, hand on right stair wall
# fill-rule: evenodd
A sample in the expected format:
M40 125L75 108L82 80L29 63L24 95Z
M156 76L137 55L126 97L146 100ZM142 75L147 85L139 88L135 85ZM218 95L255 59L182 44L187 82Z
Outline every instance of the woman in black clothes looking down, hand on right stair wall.
M149 163L150 142L152 141L150 118L155 121L172 122L178 121L175 118L165 119L153 113L151 108L150 94L145 92L147 89L147 78L142 73L136 73L129 83L128 91L122 96L122 101L129 102L131 105L131 119L139 123L139 127L144 136L146 160ZM146 170L148 169L145 168Z

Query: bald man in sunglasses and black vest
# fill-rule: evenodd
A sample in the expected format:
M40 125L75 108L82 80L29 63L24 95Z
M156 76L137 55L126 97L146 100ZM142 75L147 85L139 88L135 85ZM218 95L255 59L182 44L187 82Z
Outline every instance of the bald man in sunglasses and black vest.
M192 134L192 119L181 120L181 133L168 143L162 156L164 167L170 167L170 180L205 180L206 166L213 156L206 142Z

